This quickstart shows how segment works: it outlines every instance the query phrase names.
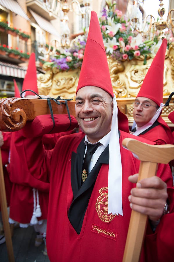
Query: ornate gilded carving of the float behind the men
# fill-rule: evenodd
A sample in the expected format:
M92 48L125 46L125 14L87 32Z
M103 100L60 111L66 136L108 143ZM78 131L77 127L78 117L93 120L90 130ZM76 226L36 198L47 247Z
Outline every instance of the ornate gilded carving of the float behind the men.
M143 65L143 56L131 61L116 61L107 56L108 66L111 75L113 91L117 98L119 109L128 116L130 124L133 122L132 103L137 96L143 79L153 61L148 57L147 64ZM51 70L50 67L43 68L46 73L39 74L38 90L40 94L50 95L57 98L59 95L64 99L75 99L80 69L59 72L57 68ZM163 103L166 102L168 95L174 91L174 43L166 52L164 65L164 90ZM167 123L168 114L173 111L173 105L169 105L162 111L162 117Z

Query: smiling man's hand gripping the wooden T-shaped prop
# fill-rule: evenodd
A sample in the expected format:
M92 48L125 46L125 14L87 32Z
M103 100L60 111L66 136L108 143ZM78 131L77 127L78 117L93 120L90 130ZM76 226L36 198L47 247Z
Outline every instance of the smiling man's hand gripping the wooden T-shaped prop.
M137 179L138 174L128 177L132 183L137 183ZM166 183L154 176L140 180L137 187L131 189L128 199L134 211L148 215L150 220L157 221L163 214L167 197Z

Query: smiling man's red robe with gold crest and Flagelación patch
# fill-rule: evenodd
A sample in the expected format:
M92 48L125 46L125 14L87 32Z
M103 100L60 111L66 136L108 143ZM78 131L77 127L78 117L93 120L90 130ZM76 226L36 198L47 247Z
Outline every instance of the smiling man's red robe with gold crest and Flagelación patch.
M73 201L71 153L72 151L76 152L83 137L84 133L82 132L64 136L58 140L52 151L44 150L41 137L37 139L23 138L21 144L16 144L19 153L21 145L24 148L31 148L29 153L24 155L26 157L24 161L28 162L31 173L42 181L46 181L48 177L50 180L46 237L48 256L51 262L105 262L113 260L121 262L131 213L128 196L131 188L135 186L128 181L128 176L139 170L139 160L135 159L130 151L124 149L121 143L125 137L135 137L125 132L121 132L120 136L123 216L107 214L108 164L102 164L89 199L81 232L78 235L69 222L67 213ZM137 139L142 141L138 137ZM35 159L33 165L31 165L31 157ZM168 186L173 186L171 170L168 165L159 164L157 175ZM154 239L150 227L146 233L148 241L145 240L141 261L158 261L157 251L160 249L160 243L156 247L157 241ZM157 230L155 234L157 234ZM146 260L146 257L148 259L151 257L151 259ZM173 254L171 257L173 259ZM165 261L165 257L162 258Z

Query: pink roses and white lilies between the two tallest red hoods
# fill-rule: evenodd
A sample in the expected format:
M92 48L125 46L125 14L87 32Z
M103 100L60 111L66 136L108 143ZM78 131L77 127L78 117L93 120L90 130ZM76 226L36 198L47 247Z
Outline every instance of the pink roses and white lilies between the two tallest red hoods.
M150 53L153 41L143 42L141 34L132 32L122 12L116 9L115 1L106 1L100 20L103 41L107 55L120 61L131 60ZM145 62L146 63L146 62Z

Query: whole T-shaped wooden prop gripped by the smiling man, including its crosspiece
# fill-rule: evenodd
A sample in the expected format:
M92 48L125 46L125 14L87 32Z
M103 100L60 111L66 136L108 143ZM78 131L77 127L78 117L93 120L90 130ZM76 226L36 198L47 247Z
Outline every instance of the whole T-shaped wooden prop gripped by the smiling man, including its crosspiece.
M167 164L174 159L173 145L149 145L136 139L125 138L123 147L141 160L138 181L156 175L158 163ZM123 262L138 262L146 232L148 216L132 210Z

